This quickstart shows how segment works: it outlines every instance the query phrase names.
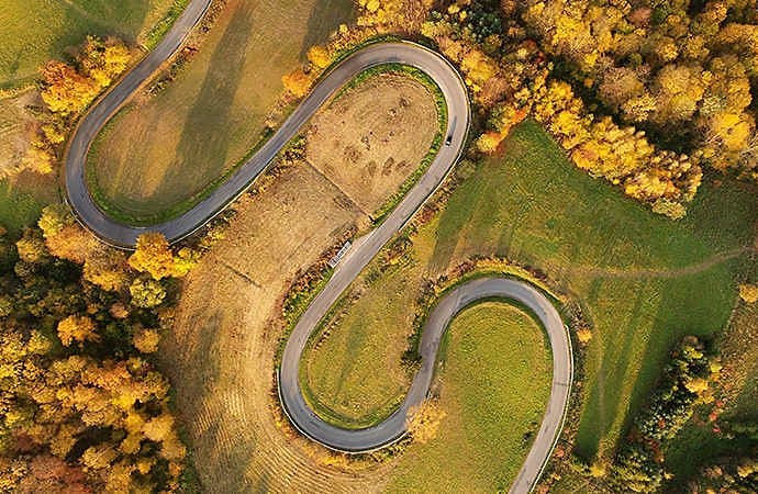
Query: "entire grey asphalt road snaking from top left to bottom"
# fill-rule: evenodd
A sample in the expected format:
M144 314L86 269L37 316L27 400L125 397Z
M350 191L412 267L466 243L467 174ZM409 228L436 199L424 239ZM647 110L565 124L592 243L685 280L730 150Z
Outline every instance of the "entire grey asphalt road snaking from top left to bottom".
M425 323L421 347L422 368L414 377L408 396L398 411L374 427L347 430L325 423L308 406L300 390L300 360L310 334L366 265L439 187L464 148L470 123L468 92L457 70L435 52L401 42L369 45L350 55L321 79L276 134L248 161L205 199L174 220L151 226L125 225L109 217L94 203L85 180L85 165L92 141L111 116L179 49L210 3L210 0L191 0L160 44L80 120L69 141L65 158L68 202L78 220L103 242L122 248L132 248L137 237L148 231L160 232L170 242L178 242L202 227L242 194L310 117L356 75L369 67L390 63L405 64L423 70L436 81L447 104L446 143L426 172L387 218L371 233L354 243L328 283L296 325L279 369L281 402L292 424L302 434L326 447L363 452L387 446L405 434L409 411L426 398L434 375L439 339L450 319L480 299L495 296L515 300L526 305L542 322L550 340L554 362L553 385L545 417L511 489L511 492L517 493L531 491L560 434L573 367L570 340L560 316L545 295L525 282L486 278L465 283L445 295Z

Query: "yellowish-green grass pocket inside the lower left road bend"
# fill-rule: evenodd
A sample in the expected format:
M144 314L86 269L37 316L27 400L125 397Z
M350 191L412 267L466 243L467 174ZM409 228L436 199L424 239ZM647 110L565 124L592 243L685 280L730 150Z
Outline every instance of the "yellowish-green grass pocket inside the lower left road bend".
M346 428L367 427L402 402L410 379L399 362L413 319L412 314L401 321L395 315L412 305L416 288L405 273L382 278L368 297L352 306L339 303L336 314L349 306L344 319L336 327L331 322L321 328L331 333L328 337L311 339L300 382L308 403L325 420Z

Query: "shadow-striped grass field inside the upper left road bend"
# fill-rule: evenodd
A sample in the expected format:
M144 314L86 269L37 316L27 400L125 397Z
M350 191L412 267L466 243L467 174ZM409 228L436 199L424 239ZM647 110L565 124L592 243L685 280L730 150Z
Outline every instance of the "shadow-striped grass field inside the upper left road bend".
M99 200L138 221L201 193L260 141L281 76L352 18L350 0L230 0L177 79L96 139L88 177Z

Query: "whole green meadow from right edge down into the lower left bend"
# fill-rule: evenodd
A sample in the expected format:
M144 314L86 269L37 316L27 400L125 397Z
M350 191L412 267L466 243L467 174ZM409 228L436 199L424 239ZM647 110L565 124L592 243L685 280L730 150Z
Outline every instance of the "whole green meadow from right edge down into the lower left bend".
M309 369L332 362L317 378L309 372L309 385L324 407L377 419L404 393L398 351L387 345L408 335L422 277L436 278L470 256L504 256L549 273L586 306L594 339L576 446L587 457L607 452L671 345L726 323L740 252L754 242L755 192L728 181L705 186L688 218L672 223L573 168L526 122L414 236L410 262L372 285L365 276L356 284L360 297L305 357Z

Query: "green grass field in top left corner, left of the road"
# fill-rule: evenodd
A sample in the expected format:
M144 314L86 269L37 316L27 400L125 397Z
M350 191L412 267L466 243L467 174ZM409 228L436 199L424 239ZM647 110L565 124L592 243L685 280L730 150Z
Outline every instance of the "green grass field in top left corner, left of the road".
M183 0L9 0L0 9L0 88L29 82L37 68L88 34L148 43Z

